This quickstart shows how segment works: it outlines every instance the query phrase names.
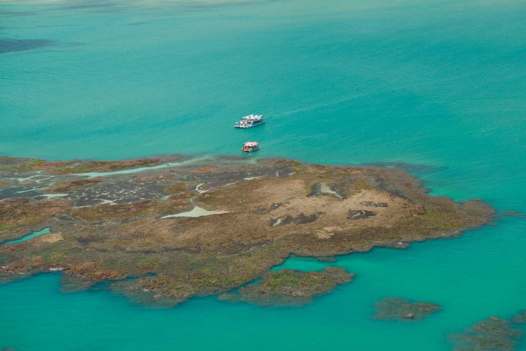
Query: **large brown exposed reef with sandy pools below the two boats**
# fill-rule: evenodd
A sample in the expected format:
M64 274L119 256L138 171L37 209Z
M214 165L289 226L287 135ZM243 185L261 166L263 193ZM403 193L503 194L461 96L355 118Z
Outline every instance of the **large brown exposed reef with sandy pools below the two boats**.
M493 213L480 200L430 196L397 168L226 156L0 157L0 282L60 272L64 291L103 283L149 306L214 294L301 305L353 274L269 272L292 254L330 260L405 248L459 235Z

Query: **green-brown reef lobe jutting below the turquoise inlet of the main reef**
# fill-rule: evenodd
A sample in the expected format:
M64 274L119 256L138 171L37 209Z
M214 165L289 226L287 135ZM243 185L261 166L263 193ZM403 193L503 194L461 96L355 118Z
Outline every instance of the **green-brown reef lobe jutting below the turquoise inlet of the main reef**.
M316 272L283 269L268 272L261 281L239 288L237 294L223 294L221 300L241 300L261 306L301 306L312 298L333 290L337 284L348 283L355 275L338 267Z

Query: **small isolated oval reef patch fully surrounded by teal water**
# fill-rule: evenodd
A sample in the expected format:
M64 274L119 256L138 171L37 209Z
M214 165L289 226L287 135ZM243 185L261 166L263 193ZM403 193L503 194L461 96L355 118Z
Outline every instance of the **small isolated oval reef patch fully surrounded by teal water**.
M440 308L439 305L428 302L410 302L403 298L387 297L375 304L377 315L372 316L372 318L382 320L419 320L437 312Z

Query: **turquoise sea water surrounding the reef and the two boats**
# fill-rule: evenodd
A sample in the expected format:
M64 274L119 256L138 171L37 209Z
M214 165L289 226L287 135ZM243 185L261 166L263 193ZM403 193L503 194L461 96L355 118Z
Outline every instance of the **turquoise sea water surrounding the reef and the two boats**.
M434 195L526 212L524 18L520 0L5 2L0 154L237 154L257 139L258 157L403 163ZM235 131L250 113L268 123ZM525 250L526 219L501 216L342 256L355 280L301 308L145 309L103 289L62 294L43 274L0 286L0 347L448 350L448 334L526 309ZM370 319L387 296L443 309Z

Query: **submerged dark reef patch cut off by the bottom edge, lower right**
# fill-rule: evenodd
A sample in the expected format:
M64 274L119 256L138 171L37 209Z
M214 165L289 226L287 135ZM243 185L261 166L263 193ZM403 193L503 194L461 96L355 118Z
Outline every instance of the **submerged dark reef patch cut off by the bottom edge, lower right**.
M513 351L522 332L508 320L490 317L451 336L454 351Z

